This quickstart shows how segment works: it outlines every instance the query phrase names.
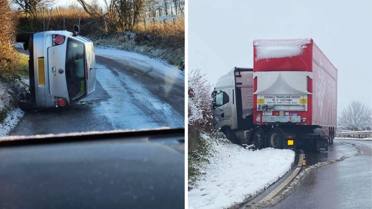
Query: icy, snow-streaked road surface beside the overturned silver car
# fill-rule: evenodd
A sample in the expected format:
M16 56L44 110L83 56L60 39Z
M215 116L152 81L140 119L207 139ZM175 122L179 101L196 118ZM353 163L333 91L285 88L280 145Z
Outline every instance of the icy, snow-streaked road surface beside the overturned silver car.
M185 75L159 61L95 48L96 91L83 105L25 113L10 135L184 127Z

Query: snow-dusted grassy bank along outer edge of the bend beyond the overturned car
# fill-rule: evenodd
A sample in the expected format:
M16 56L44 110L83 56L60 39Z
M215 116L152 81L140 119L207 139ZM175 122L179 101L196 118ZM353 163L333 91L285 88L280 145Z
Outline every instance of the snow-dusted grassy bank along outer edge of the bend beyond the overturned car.
M161 61L166 65L177 66L185 70L185 46L178 49L160 48L151 45L141 45L136 42L136 33L124 32L109 35L108 37L92 38L95 46L100 48L116 48L129 52L136 52L150 58Z

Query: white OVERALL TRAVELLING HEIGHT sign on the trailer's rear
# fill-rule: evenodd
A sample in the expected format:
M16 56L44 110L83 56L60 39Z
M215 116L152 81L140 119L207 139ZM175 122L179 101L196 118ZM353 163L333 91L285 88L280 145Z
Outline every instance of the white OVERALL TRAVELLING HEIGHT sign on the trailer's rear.
M257 104L260 105L305 105L307 95L257 95Z

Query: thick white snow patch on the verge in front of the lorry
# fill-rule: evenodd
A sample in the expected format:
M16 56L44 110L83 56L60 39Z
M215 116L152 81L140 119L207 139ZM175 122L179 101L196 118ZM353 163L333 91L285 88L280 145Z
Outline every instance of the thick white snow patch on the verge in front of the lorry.
M202 135L212 140L208 135ZM223 139L212 140L209 163L199 165L205 173L189 191L189 208L227 208L269 187L284 176L294 162L295 152L289 149L245 149Z

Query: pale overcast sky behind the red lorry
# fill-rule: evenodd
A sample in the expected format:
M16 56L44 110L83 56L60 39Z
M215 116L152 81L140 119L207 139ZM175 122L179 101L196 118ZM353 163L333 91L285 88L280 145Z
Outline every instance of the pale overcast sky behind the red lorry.
M372 5L359 1L189 0L189 71L211 84L253 67L254 39L312 38L338 69L338 111L372 106Z

